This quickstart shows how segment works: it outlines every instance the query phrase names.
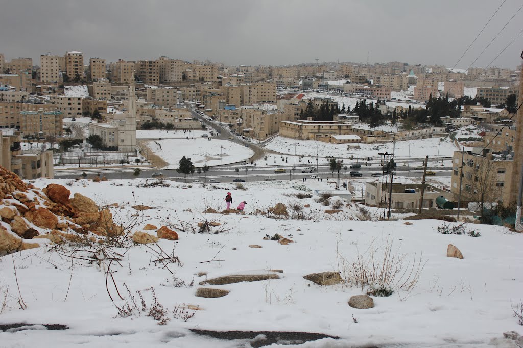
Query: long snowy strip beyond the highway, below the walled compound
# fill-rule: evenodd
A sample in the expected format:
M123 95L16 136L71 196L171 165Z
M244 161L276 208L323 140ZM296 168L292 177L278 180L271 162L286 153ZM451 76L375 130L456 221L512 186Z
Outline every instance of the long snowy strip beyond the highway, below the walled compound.
M429 156L434 159L438 156L438 152L439 157L452 157L454 151L459 151L454 146L454 142L448 137L404 140L386 144L359 143L361 148L357 151L356 149L347 150L346 144L336 145L317 140L294 140L277 136L270 140L265 145L265 148L284 154L287 152L294 154L294 145L296 145L295 153L297 155L316 157L317 153L319 157L332 156L336 158L349 158L351 155L356 157L357 153L359 153L359 158L377 157L379 152L386 151L394 153L396 158L407 158L410 153L411 158ZM288 149L290 151L287 151Z

